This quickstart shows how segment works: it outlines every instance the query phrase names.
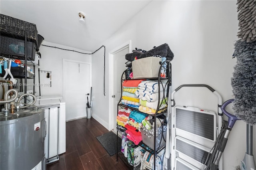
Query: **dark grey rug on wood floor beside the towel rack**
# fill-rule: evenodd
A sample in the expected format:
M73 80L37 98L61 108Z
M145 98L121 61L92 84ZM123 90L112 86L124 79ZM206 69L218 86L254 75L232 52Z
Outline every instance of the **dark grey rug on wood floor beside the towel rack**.
M96 137L110 156L116 154L116 134L112 131ZM122 139L118 137L118 152L121 150Z

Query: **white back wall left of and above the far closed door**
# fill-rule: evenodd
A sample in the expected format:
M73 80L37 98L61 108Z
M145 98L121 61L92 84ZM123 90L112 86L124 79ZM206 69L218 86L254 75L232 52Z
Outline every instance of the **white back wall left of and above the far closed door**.
M59 47L63 49L70 49L75 50L83 53L91 53L90 51L84 51L81 49L76 49L73 47L68 47L56 43L46 42L43 41L42 44L49 45L53 47ZM82 53L77 53L73 51L66 51L63 49L57 49L52 47L46 47L41 45L40 46L40 53L42 58L40 59L40 70L46 70L46 71L52 71L52 87L49 86L41 86L41 96L47 96L47 95L58 95L63 97L63 75L62 75L62 65L63 65L63 59L72 59L76 61L83 61L83 62L92 62L92 56ZM38 68L36 68L36 83L38 83ZM79 86L78 80L72 80L72 77L70 77L70 81L72 82L78 82L77 84L74 83L74 88L77 88ZM48 84L50 83L50 78L46 78L46 73L40 72L40 83ZM39 87L36 87L35 89L36 93L39 95ZM85 105L86 106L86 105Z

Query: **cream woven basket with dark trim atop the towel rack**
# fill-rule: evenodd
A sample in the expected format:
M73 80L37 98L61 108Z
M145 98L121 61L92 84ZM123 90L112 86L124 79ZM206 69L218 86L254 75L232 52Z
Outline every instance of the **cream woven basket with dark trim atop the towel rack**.
M160 57L146 57L132 61L133 78L158 77L161 63L162 58Z

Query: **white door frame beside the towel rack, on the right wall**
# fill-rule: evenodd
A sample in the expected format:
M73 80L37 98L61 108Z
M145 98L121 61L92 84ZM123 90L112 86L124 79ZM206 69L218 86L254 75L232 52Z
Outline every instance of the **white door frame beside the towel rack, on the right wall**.
M108 75L109 75L109 84L113 84L113 81L114 81L114 75L112 74L112 69L110 68L113 68L114 66L114 54L118 53L119 51L122 51L123 49L127 48L128 47L128 51L129 53L132 53L132 40L129 40L125 43L123 43L122 45L116 47L115 49L111 50L109 53L108 53L108 63L109 63L109 69L108 69ZM120 83L120 82L118 82ZM114 114L113 114L113 111L114 111L114 108L113 105L114 105L114 98L112 97L114 93L114 87L113 86L109 86L108 87L108 100L109 100L109 105L108 105L108 108L109 108L109 111L108 111L108 130L112 130L114 128L114 122L113 122L113 119L114 119ZM117 113L116 113L117 114Z

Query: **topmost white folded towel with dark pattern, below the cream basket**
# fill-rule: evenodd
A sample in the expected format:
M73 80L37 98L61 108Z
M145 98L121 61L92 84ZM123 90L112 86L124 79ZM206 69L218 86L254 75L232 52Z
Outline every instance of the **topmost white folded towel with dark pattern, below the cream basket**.
M166 83L160 83L160 91L163 91L163 86L165 87ZM157 80L146 80L142 81L138 85L139 89L151 91L153 93L158 93L158 81Z

